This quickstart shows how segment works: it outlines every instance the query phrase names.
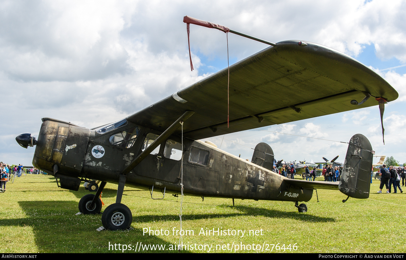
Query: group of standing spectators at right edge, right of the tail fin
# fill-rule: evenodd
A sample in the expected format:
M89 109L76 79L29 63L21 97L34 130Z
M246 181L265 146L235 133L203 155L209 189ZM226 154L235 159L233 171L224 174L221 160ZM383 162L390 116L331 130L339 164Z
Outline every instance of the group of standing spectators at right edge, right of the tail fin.
M402 188L400 187L400 179L402 178L402 187L406 185L405 177L406 177L406 165L403 167L394 167L389 166L389 169L386 167L386 164L382 165L382 169L379 171L380 176L380 185L378 193L382 193L382 188L385 185L386 193L392 192L393 186L393 193L397 193L397 189L399 188L400 193L403 193ZM371 177L372 179L372 177Z

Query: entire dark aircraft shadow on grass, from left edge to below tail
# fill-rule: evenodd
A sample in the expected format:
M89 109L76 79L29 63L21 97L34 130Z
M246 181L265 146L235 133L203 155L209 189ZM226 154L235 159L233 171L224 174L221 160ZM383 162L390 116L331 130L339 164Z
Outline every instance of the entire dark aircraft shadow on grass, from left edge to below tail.
M110 192L115 194L114 190ZM55 249L59 252L109 252L109 241L114 243L132 243L133 245L138 241L149 244L169 244L168 241L161 239L159 236L149 236L146 238L143 236L142 230L138 229L130 231L131 239L125 235L127 231L97 232L96 229L100 226L101 215L74 215L78 211L77 201L19 201L18 204L26 214L26 217L3 219L0 222L0 226L32 227L36 239L35 243L37 243L40 252L55 252ZM182 219L199 220L240 215L261 215L287 219L293 218L294 220L309 222L335 222L334 218L317 217L308 213L284 212L248 206L236 206L235 209L239 212L227 214L184 214ZM140 215L133 217L133 223L146 223L156 220L173 221L178 220L178 218L177 213L166 215ZM89 238L89 233L91 234L91 238ZM123 235L121 236L120 234ZM78 241L88 241L89 239L91 239L91 245L87 245L86 243L81 247L78 246ZM123 241L123 239L125 241Z

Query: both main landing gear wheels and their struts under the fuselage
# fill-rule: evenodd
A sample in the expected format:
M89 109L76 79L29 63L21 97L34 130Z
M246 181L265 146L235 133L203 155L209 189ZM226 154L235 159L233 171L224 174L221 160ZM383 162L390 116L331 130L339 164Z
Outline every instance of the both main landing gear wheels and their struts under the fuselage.
M132 223L132 213L130 209L121 204L123 197L126 175L120 174L119 188L117 189L116 203L108 206L102 213L102 224L107 230L125 230L130 228ZM79 201L79 211L83 214L98 214L102 209L102 201L99 196L102 193L105 181L100 183L95 195L86 194Z

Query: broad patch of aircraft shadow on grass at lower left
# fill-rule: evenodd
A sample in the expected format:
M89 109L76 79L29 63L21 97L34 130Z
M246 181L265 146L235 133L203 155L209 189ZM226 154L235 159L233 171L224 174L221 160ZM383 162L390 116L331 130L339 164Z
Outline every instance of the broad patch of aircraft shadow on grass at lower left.
M130 238L127 236L128 231L97 232L96 229L100 227L100 218L102 215L75 215L75 213L78 212L77 201L19 201L18 204L27 217L3 219L0 222L0 226L32 227L32 231L35 235L35 243L41 253L112 253L111 250L108 250L109 241L110 243L132 244L133 246L135 246L138 241L145 244L162 244L166 246L171 244L159 236L148 236L146 238L143 236L142 230L138 229L129 231L131 232ZM86 224L84 224L85 222ZM80 247L78 245L79 241L83 241L83 243L80 243ZM89 244L89 241L91 241L91 244ZM133 253L134 251L124 252ZM140 253L141 252L142 250ZM164 252L172 253L177 252L177 250ZM183 250L182 252L189 251Z

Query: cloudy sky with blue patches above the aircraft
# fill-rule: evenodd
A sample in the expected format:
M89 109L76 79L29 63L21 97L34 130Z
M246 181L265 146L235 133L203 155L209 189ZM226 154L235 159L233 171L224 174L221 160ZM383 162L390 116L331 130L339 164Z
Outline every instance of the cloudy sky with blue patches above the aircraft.
M203 141L250 160L252 148L265 142L276 160L322 162L338 155L344 162L347 145L335 141L360 133L376 155L406 162L406 1L397 0L2 0L0 160L32 165L35 147L24 149L15 137L37 137L42 117L93 128L227 67L225 34L191 25L190 71L185 15L274 43L326 45L376 71L399 93L385 107L385 145L378 106ZM233 34L228 41L230 64L268 47Z

